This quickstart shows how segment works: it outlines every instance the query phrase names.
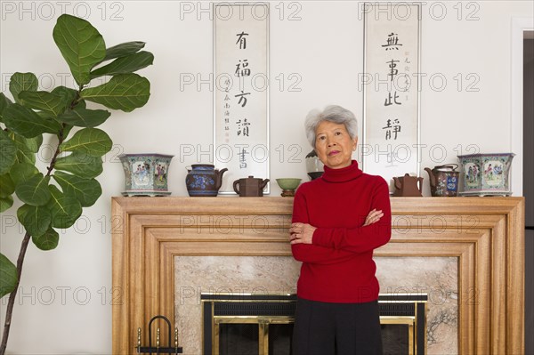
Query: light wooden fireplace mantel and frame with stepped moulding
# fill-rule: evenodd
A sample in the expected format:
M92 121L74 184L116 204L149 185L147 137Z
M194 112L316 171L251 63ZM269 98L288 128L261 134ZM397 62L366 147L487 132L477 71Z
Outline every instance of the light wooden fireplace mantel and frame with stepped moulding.
M175 319L174 256L290 255L292 205L112 198L113 353L134 353L152 316ZM524 352L523 198L392 198L392 225L376 255L457 258L460 354Z

